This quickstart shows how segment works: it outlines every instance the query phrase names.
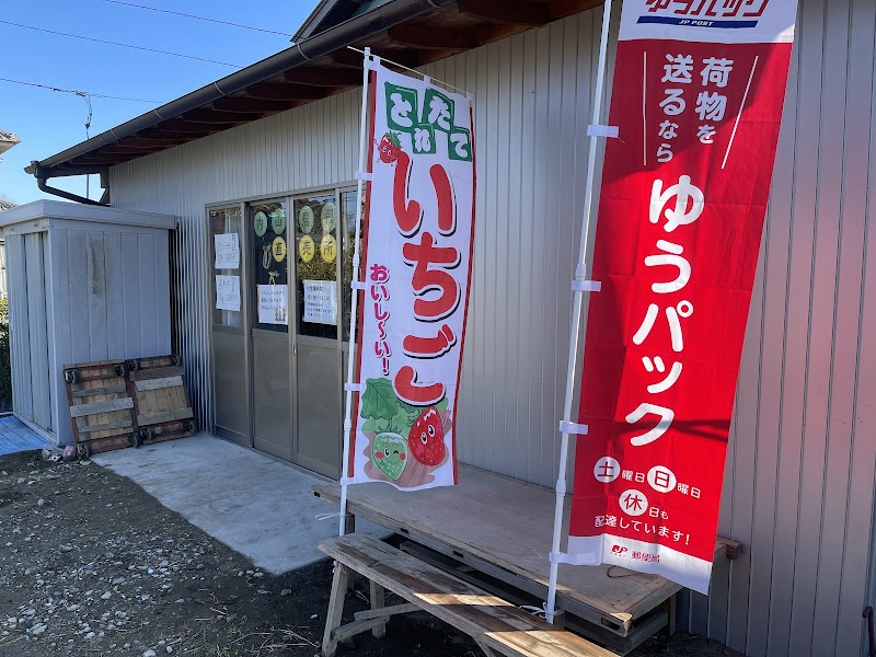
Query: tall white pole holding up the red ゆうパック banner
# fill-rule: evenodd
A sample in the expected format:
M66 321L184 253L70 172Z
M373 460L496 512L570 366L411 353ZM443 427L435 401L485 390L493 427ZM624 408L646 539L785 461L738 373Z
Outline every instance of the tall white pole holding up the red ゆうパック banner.
M606 87L606 60L608 58L609 27L611 23L611 1L612 0L606 0L606 5L602 10L602 35L599 42L599 65L597 67L596 93L593 97L593 124L599 123L599 115L602 112L602 93ZM590 132L590 151L587 158L587 183L581 218L581 238L578 249L578 265L575 270L575 278L579 281L583 281L587 276L587 243L592 217L593 180L596 175L593 170L596 169L598 139L599 135ZM572 415L572 401L575 391L575 364L578 359L578 344L581 331L581 299L584 293L584 289L576 289L573 292L572 331L569 332L568 369L566 371L566 399L563 406L563 423L561 424L561 427L565 428L562 429L563 438L560 448L560 472L556 479L556 505L554 507L554 534L553 542L551 543L551 577L548 587L548 604L545 609L549 623L553 623L556 615L556 579L560 569L557 557L563 535L563 506L566 496L566 470L568 468L569 431L567 425L569 422L568 418Z

